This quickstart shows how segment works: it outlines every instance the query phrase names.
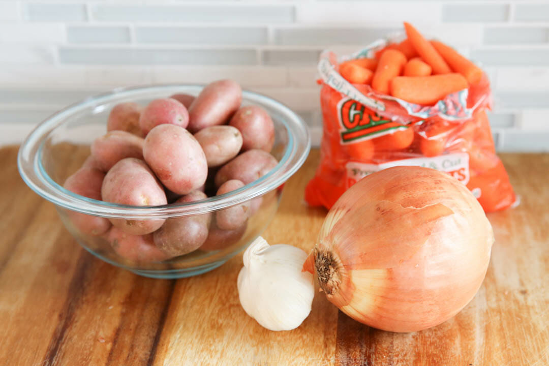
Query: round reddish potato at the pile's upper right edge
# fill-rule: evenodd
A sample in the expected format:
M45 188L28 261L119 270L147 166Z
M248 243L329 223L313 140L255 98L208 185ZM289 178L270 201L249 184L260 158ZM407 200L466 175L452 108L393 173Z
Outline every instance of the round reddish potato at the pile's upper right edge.
M267 111L257 105L240 108L232 117L229 125L242 133L242 151L251 149L265 150L267 153L275 143L275 125Z

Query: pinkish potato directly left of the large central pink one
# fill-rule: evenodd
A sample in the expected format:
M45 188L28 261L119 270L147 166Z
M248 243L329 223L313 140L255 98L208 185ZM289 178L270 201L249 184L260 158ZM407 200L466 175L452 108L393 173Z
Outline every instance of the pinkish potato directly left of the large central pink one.
M108 172L117 162L126 157L143 159L145 140L126 131L110 131L96 138L91 146L95 164Z

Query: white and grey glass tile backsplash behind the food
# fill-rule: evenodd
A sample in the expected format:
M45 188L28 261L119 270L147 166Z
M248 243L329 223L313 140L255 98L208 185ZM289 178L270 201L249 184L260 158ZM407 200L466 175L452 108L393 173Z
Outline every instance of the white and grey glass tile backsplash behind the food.
M404 20L484 67L497 148L549 150L541 0L0 0L0 144L114 87L227 77L288 104L318 143L321 50L354 52Z

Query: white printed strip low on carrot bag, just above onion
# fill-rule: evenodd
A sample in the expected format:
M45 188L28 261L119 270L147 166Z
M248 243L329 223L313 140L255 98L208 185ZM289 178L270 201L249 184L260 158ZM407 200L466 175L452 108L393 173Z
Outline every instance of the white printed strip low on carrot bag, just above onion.
M434 157L414 157L384 162L382 164L365 164L349 161L346 165L345 188L360 181L374 172L394 166L422 166L446 172L463 184L469 183L469 155L466 153L446 154Z

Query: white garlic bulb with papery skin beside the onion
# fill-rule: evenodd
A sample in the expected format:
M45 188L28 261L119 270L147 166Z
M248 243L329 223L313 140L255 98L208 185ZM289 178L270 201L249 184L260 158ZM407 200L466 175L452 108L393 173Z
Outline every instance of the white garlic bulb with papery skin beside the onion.
M244 311L270 330L297 328L315 295L313 277L301 272L307 254L292 245L270 246L259 237L244 252L238 295Z

